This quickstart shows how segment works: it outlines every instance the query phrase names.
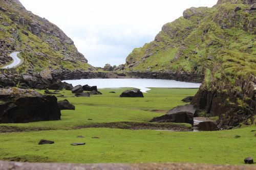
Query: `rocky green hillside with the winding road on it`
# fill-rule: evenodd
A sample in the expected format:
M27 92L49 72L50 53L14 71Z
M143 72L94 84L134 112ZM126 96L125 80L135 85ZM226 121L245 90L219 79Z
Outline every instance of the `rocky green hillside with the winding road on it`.
M0 0L0 22L0 67L10 62L13 51L21 51L25 59L16 68L18 73L91 67L65 33L27 11L18 0Z

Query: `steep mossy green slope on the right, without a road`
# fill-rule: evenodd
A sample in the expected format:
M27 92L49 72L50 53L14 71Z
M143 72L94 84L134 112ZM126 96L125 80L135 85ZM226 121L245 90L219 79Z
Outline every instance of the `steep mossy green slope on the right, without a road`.
M203 74L193 104L219 116L223 128L253 122L255 5L252 0L219 0L213 8L185 10L154 41L135 48L126 59L126 71Z

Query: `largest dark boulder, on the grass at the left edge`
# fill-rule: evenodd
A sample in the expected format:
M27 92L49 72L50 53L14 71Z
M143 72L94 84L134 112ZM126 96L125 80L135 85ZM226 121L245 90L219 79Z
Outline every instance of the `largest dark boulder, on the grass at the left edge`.
M57 98L35 90L0 89L0 123L60 120Z

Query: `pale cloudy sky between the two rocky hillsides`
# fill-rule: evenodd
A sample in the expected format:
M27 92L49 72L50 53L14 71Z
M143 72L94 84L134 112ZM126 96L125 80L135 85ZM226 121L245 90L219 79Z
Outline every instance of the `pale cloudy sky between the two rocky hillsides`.
M93 66L119 65L190 7L218 0L20 0L65 32Z

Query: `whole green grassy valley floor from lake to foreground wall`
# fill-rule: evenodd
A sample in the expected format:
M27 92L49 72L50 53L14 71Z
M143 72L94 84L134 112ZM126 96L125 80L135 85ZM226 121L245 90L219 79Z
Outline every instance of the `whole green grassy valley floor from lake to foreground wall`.
M157 130L127 130L86 128L93 123L146 122L154 116L152 110L169 110L197 89L153 88L145 98L119 98L124 89L100 90L103 95L75 98L70 91L61 91L75 111L62 111L59 121L29 124L2 124L17 127L51 127L48 131L0 133L0 159L30 162L195 162L212 164L243 164L247 156L256 157L256 126L216 132L174 132ZM109 93L116 91L116 93ZM42 91L40 91L42 92ZM58 100L63 100L59 98ZM88 119L92 120L88 120ZM84 138L77 138L78 135ZM234 136L240 135L240 138ZM98 138L93 138L98 137ZM38 145L40 139L55 141ZM86 145L72 146L73 142Z

